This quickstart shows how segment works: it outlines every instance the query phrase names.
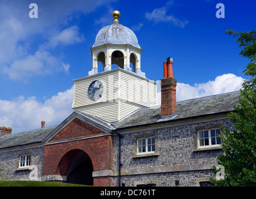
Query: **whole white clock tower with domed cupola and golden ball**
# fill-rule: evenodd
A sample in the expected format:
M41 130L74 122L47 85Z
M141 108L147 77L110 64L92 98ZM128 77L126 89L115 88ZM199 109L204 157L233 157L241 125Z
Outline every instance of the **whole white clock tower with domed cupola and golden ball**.
M134 32L115 21L98 32L91 50L92 70L88 76L73 80L72 108L113 123L138 108L156 106L156 82L141 72L141 52ZM98 62L103 72L98 72ZM118 68L112 69L113 65Z

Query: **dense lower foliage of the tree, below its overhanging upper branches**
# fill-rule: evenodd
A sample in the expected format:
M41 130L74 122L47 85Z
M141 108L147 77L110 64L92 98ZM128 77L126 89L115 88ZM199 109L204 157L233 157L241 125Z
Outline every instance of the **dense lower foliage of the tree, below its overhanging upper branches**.
M242 90L240 106L229 113L235 130L222 128L220 136L224 155L219 155L218 164L225 168L224 180L212 180L219 186L256 186L256 92ZM217 170L215 170L215 173Z

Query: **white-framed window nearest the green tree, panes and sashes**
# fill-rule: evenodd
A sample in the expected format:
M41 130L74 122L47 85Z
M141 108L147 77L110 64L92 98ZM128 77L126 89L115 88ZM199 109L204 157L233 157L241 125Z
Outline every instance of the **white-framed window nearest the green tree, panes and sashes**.
M202 148L220 146L221 142L218 135L220 135L220 129L207 129L198 131L198 147Z

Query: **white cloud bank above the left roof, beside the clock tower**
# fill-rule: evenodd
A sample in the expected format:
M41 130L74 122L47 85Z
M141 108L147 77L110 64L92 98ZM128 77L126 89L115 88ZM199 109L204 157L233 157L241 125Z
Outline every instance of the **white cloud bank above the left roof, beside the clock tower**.
M2 125L11 126L12 132L22 132L40 128L40 121L45 126L58 125L72 113L73 86L46 99L44 103L32 96L7 101L0 99L0 121Z

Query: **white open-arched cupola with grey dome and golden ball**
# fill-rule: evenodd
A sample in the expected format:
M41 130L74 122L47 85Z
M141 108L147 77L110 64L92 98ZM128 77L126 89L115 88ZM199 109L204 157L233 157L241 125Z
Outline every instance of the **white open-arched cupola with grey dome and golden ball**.
M135 33L117 20L120 12L114 11L113 17L115 21L98 32L95 43L90 49L93 63L88 75L98 73L98 62L101 62L104 72L111 70L111 65L116 64L128 72L145 77L145 73L141 72L142 49Z

